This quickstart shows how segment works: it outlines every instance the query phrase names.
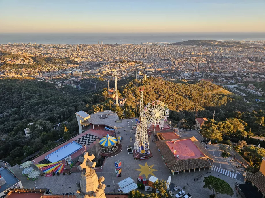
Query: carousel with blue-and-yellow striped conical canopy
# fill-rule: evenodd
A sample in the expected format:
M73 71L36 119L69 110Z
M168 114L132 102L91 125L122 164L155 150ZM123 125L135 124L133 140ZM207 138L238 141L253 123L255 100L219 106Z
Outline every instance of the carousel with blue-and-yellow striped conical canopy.
M106 136L102 137L99 140L99 144L101 145L101 152L103 153L115 152L118 148L117 142L118 142L117 137L110 136L108 133Z

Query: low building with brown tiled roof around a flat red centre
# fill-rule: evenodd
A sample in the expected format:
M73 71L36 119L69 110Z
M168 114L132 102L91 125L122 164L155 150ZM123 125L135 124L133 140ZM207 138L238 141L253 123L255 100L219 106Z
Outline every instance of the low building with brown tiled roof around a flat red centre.
M213 157L195 137L160 140L156 141L156 145L173 174L185 173L185 170L205 170L206 167L210 169L213 164Z

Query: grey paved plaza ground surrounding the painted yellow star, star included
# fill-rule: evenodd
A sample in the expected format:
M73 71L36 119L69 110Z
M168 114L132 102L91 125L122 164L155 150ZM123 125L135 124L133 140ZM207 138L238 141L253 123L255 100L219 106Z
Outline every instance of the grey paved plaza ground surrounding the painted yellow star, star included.
M150 158L149 160L135 160L133 158L133 155L130 154L128 155L127 152L127 146L132 146L134 144L134 136L133 133L130 135L130 133L125 132L124 129L118 129L116 133L120 131L120 134L123 137L122 140L122 152L118 154L117 156L107 158L105 160L103 170L100 173L97 173L98 176L104 176L105 181L104 183L106 184L106 189L105 193L113 193L114 189L115 192L118 192L118 182L131 176L133 180L137 183L137 177L139 174L142 174L143 178L149 179L151 175L156 176L159 180L167 180L169 176L171 176L171 173L169 172L169 168L166 167L164 160L162 159L162 156L160 155L160 152L158 151L156 144L154 142L150 142L150 149L152 152L153 157ZM127 133L127 135L125 135ZM118 135L118 134L117 134ZM196 137L198 140L202 140L203 137L198 133L196 130L192 131L186 131L183 132L182 137ZM130 137L132 137L133 141L130 142ZM151 140L153 138L153 135L151 135ZM121 168L121 177L116 177L115 173L115 166L114 163L116 160L120 160L122 162ZM145 168L147 163L148 168ZM139 166L141 165L141 166ZM137 170L139 169L139 170ZM180 174L175 174L174 176L171 176L171 182L175 183L177 186L185 186L184 191L186 193L190 193L193 197L196 198L205 198L209 197L211 194L211 191L209 189L204 189L203 185L203 177L204 176L209 176L213 175L218 178L221 178L228 182L232 189L234 189L235 182L238 180L234 178L230 178L227 176L224 176L222 174L219 174L216 171L211 171L207 174L207 171L209 172L209 169L206 169L205 171L201 170L198 171L196 170L195 172L191 171L190 173L180 173ZM198 176L204 174L204 176L200 177L199 181L194 182L194 178L197 178ZM147 177L146 177L147 176ZM200 190L198 190L200 189ZM200 192L200 193L198 193ZM174 196L176 192L173 193ZM236 195L236 193L235 193ZM219 195L219 197L230 197L229 195ZM232 196L233 197L233 196Z

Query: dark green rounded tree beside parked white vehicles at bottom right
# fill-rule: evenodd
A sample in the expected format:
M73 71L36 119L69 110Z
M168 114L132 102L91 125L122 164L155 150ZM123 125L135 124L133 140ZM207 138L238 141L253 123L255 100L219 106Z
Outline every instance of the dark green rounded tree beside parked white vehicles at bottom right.
M234 194L233 189L230 187L230 185L225 182L224 180L214 177L212 175L205 177L204 180L204 188L208 188L209 190L213 191L213 196L215 193L215 197L218 194L226 194L232 196Z

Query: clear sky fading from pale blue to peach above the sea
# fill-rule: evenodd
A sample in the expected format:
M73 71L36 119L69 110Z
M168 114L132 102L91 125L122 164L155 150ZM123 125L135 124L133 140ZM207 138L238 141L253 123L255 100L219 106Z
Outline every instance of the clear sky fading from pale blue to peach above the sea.
M265 0L0 0L0 32L265 32Z

